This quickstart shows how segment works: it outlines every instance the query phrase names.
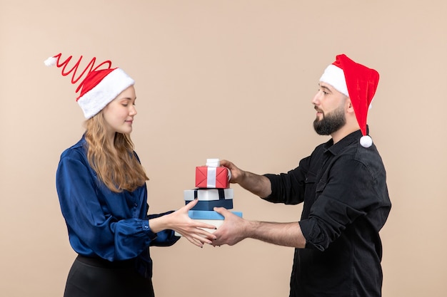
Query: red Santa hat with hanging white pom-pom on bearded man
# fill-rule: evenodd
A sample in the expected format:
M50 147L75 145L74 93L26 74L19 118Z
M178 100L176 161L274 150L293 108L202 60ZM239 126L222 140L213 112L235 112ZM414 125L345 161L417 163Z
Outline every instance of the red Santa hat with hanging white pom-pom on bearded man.
M328 83L351 99L362 137L360 144L371 147L373 140L366 130L366 118L378 85L378 72L352 61L346 55L336 56L321 75L320 81Z

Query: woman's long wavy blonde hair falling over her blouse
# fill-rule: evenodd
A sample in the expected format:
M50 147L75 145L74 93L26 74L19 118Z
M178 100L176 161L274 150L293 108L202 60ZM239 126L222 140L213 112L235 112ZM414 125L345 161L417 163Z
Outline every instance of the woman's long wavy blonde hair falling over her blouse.
M107 141L102 110L86 120L85 127L90 166L112 192L132 192L149 180L134 153L130 135L116 132L114 143Z

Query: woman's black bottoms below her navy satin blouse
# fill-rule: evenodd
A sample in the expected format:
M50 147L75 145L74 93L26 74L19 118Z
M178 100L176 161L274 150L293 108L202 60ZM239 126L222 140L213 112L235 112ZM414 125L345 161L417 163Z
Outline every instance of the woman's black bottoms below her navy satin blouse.
M78 256L71 266L64 297L154 297L151 279L134 268L134 261L110 262Z

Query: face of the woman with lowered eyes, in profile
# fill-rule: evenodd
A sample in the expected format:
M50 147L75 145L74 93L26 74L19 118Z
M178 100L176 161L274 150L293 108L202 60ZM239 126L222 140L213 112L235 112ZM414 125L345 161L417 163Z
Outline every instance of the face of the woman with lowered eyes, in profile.
M135 100L135 88L131 85L103 109L102 114L109 135L115 135L115 132L123 134L132 132L132 123L136 115Z

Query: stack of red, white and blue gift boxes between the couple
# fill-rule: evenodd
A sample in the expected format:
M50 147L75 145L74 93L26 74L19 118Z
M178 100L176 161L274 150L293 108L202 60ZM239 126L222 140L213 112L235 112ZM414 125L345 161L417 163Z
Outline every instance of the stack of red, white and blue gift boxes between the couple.
M196 167L196 188L184 191L185 203L198 199L189 211L189 217L219 228L224 217L214 212L214 207L233 209L233 189L230 188L231 172L220 166L219 159L207 159L206 166ZM242 217L242 212L233 212ZM206 229L207 231L214 231Z

